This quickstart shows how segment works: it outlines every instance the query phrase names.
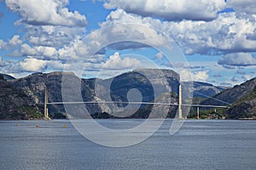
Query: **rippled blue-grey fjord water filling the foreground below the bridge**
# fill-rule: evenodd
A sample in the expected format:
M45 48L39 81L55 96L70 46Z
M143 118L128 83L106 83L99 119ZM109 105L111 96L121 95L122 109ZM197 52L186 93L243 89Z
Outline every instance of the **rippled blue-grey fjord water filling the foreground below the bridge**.
M127 128L143 120L98 122ZM189 120L174 135L171 124L140 144L110 148L67 120L0 122L0 169L256 169L255 121Z

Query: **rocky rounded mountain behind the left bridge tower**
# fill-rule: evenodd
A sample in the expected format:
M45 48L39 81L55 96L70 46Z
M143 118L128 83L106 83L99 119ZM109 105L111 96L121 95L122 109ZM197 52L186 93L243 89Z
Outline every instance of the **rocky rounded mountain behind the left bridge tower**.
M71 72L51 72L48 74L34 73L28 77L15 79L11 81L15 87L22 88L28 96L30 96L35 103L44 103L44 87L48 89L49 103L61 102L61 81L62 75L65 74L72 81L80 81L79 77L76 77ZM84 101L90 101L93 99L93 94L90 90L89 84L86 80L82 80L82 94ZM70 87L71 93L73 87ZM89 111L100 111L97 105L89 105L87 108ZM49 116L53 118L65 118L66 111L63 105L49 105Z

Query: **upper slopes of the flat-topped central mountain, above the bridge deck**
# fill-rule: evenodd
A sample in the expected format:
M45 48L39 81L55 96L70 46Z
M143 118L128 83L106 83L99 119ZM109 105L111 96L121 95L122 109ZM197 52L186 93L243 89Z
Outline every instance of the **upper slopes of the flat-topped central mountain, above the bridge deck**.
M128 101L128 92L136 88L143 101L149 102L166 92L177 94L179 75L171 70L141 69L102 81L105 87L109 84L113 100Z

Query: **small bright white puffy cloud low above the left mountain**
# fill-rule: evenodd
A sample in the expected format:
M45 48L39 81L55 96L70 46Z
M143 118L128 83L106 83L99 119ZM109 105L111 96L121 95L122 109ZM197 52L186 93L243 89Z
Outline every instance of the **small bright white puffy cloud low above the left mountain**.
M47 61L42 59L26 58L20 62L20 67L23 71L43 71Z

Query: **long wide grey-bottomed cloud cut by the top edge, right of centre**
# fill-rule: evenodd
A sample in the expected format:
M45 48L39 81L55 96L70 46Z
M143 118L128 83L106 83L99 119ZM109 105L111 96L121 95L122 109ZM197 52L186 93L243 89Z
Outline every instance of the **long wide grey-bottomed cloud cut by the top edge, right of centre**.
M225 3L224 0L106 0L104 7L122 8L128 13L164 20L213 20Z

